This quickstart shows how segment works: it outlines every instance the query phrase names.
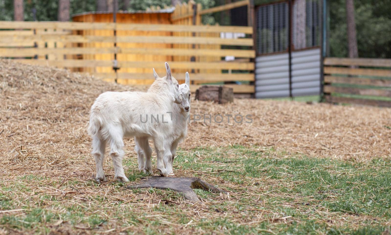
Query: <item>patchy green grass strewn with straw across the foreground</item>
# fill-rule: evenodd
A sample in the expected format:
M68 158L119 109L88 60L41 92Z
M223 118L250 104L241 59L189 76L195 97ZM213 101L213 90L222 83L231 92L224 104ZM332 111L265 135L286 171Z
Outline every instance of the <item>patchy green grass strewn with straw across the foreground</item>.
M155 163L153 163L155 164ZM136 159L127 176L138 182ZM391 161L308 158L268 148L197 148L178 151L174 169L200 177L228 195L195 190L187 203L172 190L124 190L114 181L22 176L0 185L0 228L23 233L110 234L389 234ZM48 185L68 192L47 192ZM13 189L18 190L13 190ZM61 225L54 226L60 221ZM126 228L131 228L127 230ZM112 230L114 229L114 230ZM110 231L111 230L111 231Z

